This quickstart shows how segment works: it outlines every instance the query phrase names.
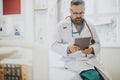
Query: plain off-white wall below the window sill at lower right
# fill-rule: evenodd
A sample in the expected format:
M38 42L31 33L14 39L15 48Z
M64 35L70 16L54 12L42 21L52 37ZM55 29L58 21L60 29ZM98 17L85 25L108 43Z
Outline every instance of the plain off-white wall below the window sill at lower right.
M102 47L101 61L113 80L120 79L120 47Z

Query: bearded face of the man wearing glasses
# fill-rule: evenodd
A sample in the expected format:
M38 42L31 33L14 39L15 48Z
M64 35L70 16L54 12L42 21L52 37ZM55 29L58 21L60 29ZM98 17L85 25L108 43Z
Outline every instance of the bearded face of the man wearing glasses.
M81 24L84 19L84 5L72 5L70 8L71 18L76 24Z

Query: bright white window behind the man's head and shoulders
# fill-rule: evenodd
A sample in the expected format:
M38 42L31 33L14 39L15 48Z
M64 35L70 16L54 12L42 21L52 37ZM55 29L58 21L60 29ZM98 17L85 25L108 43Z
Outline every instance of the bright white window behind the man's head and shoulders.
M85 0L85 2L85 17L95 26L102 45L120 44L120 1ZM69 2L61 0L60 19L69 15L68 10Z

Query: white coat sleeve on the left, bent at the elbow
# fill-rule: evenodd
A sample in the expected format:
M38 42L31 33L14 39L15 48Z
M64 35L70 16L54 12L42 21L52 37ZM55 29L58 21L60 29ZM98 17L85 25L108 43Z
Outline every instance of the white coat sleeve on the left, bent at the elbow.
M58 24L58 26L54 30L51 48L54 52L59 53L62 56L67 56L68 44L63 42L62 40L61 27L62 26Z

